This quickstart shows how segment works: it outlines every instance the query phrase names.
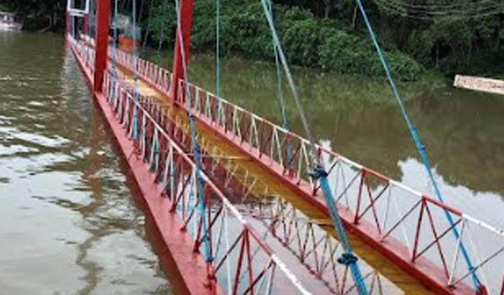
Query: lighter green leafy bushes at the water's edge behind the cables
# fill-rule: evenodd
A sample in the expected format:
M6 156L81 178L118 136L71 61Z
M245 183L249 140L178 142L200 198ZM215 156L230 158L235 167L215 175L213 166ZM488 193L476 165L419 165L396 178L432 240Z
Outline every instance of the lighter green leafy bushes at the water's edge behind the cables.
M168 10L174 14L172 7ZM215 50L215 11L215 0L195 2L191 37L193 49ZM297 6L275 5L274 18L282 47L291 64L321 67L341 74L383 75L380 60L367 36L343 31L334 21L316 19L309 10ZM261 3L225 1L220 28L222 54L238 53L245 58L273 60L271 32ZM158 35L154 27L151 30ZM174 41L173 34L170 38ZM422 67L405 53L391 49L385 52L385 56L397 78L404 81L419 78Z

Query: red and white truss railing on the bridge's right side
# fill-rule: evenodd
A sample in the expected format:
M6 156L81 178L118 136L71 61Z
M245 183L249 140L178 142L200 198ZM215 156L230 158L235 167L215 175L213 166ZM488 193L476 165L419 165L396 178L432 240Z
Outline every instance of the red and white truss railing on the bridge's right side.
M133 60L127 58L129 54L118 52L122 58L117 61L133 69ZM163 85L172 83L159 83L150 75L145 73L140 78L160 91L165 91ZM179 81L179 89L184 90L185 86L184 81ZM185 108L184 99L191 99L195 117L211 124L222 135L238 143L243 151L266 162L270 169L278 171L307 194L316 196L319 193L320 185L310 177L307 140L200 87L187 86L188 93L179 92L181 108ZM287 149L291 149L289 157ZM466 250L475 262L473 271L482 278L485 292L504 294L503 230L322 146L317 149L318 157L329 168L330 185L347 224L359 228L367 237L393 251L403 262L463 294L474 292L468 287L470 272L460 259L460 245L468 245ZM453 215L453 226L446 222L445 212ZM459 230L460 238L448 235L453 228Z

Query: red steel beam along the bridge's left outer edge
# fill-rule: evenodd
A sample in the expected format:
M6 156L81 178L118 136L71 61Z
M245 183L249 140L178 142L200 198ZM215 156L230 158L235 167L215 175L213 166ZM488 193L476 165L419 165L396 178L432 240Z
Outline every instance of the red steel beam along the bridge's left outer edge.
M93 77L85 62L74 52L74 56L81 67L86 81L93 87ZM139 196L149 216L147 220L154 222L158 239L156 250L161 255L163 269L170 279L175 294L177 295L215 295L213 290L206 287L208 282L206 262L199 253L193 251L194 241L188 232L181 231L183 222L177 214L170 214L170 200L161 197L162 189L155 181L155 175L146 173L145 163L141 158L131 157L134 147L129 140L124 128L117 121L115 114L106 101L103 93L92 91L93 97L99 106L108 127L112 131L115 142L120 147L122 158L127 161L131 175L140 191ZM145 203L144 203L145 202ZM220 290L217 291L220 294Z

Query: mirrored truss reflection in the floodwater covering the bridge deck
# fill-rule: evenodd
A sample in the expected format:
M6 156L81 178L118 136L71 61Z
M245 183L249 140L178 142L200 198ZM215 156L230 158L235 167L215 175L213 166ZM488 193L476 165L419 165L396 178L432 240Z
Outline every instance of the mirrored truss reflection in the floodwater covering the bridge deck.
M143 106L155 121L163 122L165 130L184 151L190 151L189 126L171 112L170 107L163 107L155 99L143 101ZM352 294L356 292L355 282L348 273L348 266L340 264L343 249L337 239L320 228L326 221L314 221L307 218L300 210L282 199L275 189L261 183L259 178L250 174L239 164L240 157L227 157L225 151L216 149L204 136L198 135L202 165L204 171L220 189L233 189L232 202L240 205L246 216L258 220L266 229L265 235L275 237L287 248L314 279L321 280L332 294ZM252 197L253 196L253 197ZM366 274L364 281L369 294L401 294L402 291L363 260L359 261ZM382 284L384 282L384 284Z

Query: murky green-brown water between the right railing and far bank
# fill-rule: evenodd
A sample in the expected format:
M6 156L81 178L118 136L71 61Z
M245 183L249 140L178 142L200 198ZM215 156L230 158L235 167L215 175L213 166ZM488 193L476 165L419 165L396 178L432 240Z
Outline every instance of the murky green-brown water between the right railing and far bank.
M151 52L147 58L165 65L171 53ZM348 158L430 192L405 121L382 79L299 68L293 74L318 140L328 140ZM215 90L215 76L211 56L193 56L190 81ZM281 122L275 87L274 65L236 58L222 63L222 96ZM400 83L399 88L448 202L504 228L504 218L497 214L504 210L503 97L452 87L433 90L423 83ZM287 101L291 129L302 134L293 100Z

